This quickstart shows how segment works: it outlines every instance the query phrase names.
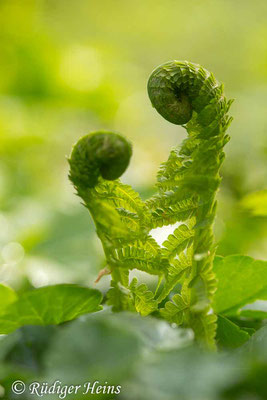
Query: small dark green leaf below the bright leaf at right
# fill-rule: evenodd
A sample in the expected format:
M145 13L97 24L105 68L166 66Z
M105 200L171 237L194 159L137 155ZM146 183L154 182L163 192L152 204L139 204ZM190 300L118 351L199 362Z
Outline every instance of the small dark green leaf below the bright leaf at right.
M216 339L219 346L234 349L242 346L250 335L228 318L218 315Z

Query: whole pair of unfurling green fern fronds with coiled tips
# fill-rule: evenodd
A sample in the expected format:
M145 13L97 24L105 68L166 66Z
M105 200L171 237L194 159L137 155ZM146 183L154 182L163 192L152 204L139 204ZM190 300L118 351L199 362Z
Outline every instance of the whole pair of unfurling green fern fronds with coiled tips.
M187 61L156 68L148 81L148 95L166 120L182 125L188 133L161 165L157 193L142 201L120 182L132 148L112 132L94 132L75 144L69 177L103 245L107 266L102 273L112 277L107 304L114 311L153 313L189 326L198 342L213 348L216 246L212 226L232 101L226 100L223 85L210 72ZM173 234L159 246L151 230L174 224ZM130 282L133 269L157 276L157 288L151 291L136 278Z

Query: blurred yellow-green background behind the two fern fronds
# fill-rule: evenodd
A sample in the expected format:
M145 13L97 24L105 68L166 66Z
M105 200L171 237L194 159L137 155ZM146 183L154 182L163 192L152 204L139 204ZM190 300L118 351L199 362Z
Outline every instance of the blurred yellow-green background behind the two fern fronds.
M146 94L152 69L172 59L202 64L236 99L218 254L266 259L266 192L253 211L267 181L266 15L266 0L0 0L2 282L92 285L102 250L66 156L89 131L119 131L134 145L122 180L153 193L159 163L185 137Z

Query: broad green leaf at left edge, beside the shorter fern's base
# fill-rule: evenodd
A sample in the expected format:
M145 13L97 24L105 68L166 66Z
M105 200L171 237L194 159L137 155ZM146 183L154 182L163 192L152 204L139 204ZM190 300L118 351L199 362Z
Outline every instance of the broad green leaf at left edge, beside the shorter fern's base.
M98 290L77 285L55 285L25 292L0 315L0 333L24 325L52 325L71 321L82 314L99 311Z

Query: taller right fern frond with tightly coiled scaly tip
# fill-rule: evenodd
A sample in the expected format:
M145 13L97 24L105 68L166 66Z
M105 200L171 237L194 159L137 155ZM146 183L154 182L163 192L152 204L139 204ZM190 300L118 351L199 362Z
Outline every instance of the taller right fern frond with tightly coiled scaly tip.
M162 165L158 174L159 194L148 201L154 216L152 227L184 221L164 243L172 273L161 299L177 282L173 266L179 280L184 257L191 260L182 280L182 306L176 310L179 321L178 314L173 312L175 303L165 305L162 315L173 322L185 322L194 329L198 341L212 347L216 329L216 317L210 309L216 290L212 272L215 253L212 225L223 147L229 139L225 132L231 122L227 116L231 101L226 101L223 86L211 73L186 61L172 61L156 68L148 81L148 94L152 105L165 119L183 125L188 133L181 147L173 150ZM161 218L157 220L159 215ZM188 224L191 233L187 237Z

